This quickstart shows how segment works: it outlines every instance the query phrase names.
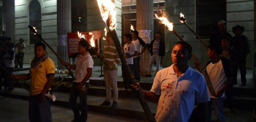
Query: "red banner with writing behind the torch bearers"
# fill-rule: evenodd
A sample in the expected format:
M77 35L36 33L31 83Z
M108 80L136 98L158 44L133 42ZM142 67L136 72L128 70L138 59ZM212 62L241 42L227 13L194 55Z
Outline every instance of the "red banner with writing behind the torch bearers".
M82 35L85 35L85 40L88 41L88 43L90 43L92 45L92 43L90 42L92 35L90 35L89 33L93 34L93 41L95 43L95 49L99 52L98 48L101 48L100 46L100 31L83 31L83 32L79 32L82 33ZM76 58L76 55L78 54L78 42L80 41L80 38L78 38L78 34L77 32L73 32L73 33L67 33L67 45L68 45L68 55L69 58ZM92 55L92 57L97 57L95 55L94 50L92 49L91 46L89 46L89 50L88 52Z

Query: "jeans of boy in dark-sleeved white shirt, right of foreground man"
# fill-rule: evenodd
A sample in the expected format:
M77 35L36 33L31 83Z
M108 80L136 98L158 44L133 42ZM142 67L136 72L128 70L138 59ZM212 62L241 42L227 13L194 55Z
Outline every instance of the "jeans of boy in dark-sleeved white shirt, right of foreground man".
M222 98L210 98L211 99L211 102L208 102L207 103L207 108L210 109L209 112L210 112L210 117L209 119L211 120L212 117L211 117L211 105L214 106L214 110L216 112L216 115L217 115L217 121L218 122L225 122L225 115L224 115L224 112L223 112L223 109L224 109L224 97Z

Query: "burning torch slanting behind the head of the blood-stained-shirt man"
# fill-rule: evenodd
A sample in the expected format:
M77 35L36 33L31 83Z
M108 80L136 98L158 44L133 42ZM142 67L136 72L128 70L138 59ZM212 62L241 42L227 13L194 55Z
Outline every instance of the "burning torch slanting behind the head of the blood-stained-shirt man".
M163 13L161 12L161 14L163 14ZM173 29L173 23L170 23L166 17L164 17L163 15L161 17L158 17L156 15L156 18L159 19L159 22L161 24L164 24L168 28L168 30L173 31L173 33L180 39L180 41L184 41L182 39L182 37L180 36L180 34L178 34L178 32L175 31L175 29ZM215 93L215 91L213 89L213 85L211 84L210 79L206 76L206 74L203 71L199 61L197 60L197 58L195 57L195 55L193 53L192 53L192 58L193 58L195 64L199 64L199 65L195 65L195 66L199 70L199 72L204 76L204 79L206 80L206 84L207 84L207 87L208 87L209 91L211 92L211 94L213 96L216 96L216 93Z

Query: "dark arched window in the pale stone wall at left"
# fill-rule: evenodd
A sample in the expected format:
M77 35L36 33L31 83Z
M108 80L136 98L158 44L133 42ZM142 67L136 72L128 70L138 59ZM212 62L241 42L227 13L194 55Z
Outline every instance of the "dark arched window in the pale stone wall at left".
M37 33L42 35L42 14L41 14L41 5L35 0L29 6L29 25L36 27ZM40 38L34 33L29 31L29 43L30 45L35 45L40 42Z

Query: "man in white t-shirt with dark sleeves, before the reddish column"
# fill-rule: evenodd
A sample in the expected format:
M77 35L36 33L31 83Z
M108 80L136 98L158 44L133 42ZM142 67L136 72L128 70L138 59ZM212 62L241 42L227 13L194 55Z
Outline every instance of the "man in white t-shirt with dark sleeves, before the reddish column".
M131 41L133 44L136 45L136 48L138 50L138 55L133 57L133 74L136 81L140 81L140 55L142 55L146 48L147 44L138 36L138 31L133 31L132 38L133 41ZM141 50L143 46L143 49ZM141 51L140 51L141 50Z

